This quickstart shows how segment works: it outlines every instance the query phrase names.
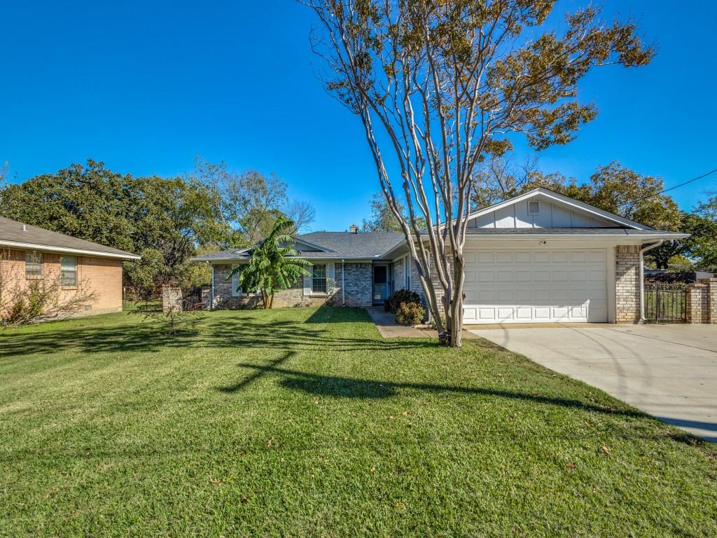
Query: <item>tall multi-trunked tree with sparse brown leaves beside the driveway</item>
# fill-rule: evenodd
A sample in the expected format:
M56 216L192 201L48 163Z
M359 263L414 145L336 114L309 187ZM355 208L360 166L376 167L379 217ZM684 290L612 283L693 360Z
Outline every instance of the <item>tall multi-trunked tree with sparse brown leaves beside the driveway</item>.
M571 141L597 114L577 100L579 80L597 65L645 65L653 51L633 24L603 24L593 7L551 28L554 0L300 1L320 22L311 44L326 88L364 125L441 338L460 346L476 166L516 133L537 149Z

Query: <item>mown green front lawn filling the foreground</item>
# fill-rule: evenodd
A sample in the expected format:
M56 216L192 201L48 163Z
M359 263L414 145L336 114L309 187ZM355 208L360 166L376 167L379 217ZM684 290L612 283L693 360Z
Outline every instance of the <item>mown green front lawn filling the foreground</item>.
M0 334L2 536L715 536L717 447L363 310Z

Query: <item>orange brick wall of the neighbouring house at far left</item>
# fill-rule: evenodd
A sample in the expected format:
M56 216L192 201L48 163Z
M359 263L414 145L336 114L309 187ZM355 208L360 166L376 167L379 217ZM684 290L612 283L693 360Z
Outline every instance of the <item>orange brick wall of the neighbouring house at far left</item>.
M6 289L26 288L31 280L25 276L25 251L4 250L2 267ZM42 253L43 278L60 278L60 254ZM87 284L95 296L88 308L80 314L104 313L122 310L122 260L77 256L77 282ZM7 291L5 293L8 293ZM61 300L77 293L77 288L64 288Z

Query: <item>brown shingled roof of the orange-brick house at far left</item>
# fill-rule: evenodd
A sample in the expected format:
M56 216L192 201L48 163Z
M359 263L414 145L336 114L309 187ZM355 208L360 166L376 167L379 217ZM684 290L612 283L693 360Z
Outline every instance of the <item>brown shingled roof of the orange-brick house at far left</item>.
M54 253L79 254L96 256L98 258L120 258L121 260L139 260L136 254L106 247L92 241L78 239L71 235L45 230L39 226L32 226L0 217L0 246L16 248L19 250L44 250Z

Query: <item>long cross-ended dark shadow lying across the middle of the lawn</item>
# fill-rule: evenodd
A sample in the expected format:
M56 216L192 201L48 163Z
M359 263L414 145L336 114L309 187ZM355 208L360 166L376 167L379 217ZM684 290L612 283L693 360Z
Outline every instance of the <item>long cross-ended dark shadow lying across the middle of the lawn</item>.
M444 393L451 392L454 394L480 395L507 398L509 400L525 400L527 402L536 402L547 405L559 405L561 407L569 407L589 412L599 412L605 415L620 415L625 417L648 417L644 412L633 410L619 410L613 407L604 407L580 400L571 400L568 398L541 396L536 394L526 394L524 392L516 392L511 390L497 390L483 387L460 387L448 384L435 383L409 383L409 382L391 382L379 381L376 379L356 379L353 377L326 376L320 374L310 374L296 369L288 369L279 365L285 362L289 357L281 357L275 361L257 366L256 364L241 363L237 366L242 368L253 369L255 372L249 377L242 379L236 384L227 387L219 387L219 391L227 394L239 392L247 387L250 382L267 374L277 374L280 376L279 383L282 387L291 390L307 392L311 395L341 397L341 398L358 398L361 400L381 400L385 398L395 397L399 395L401 390L421 390L424 392ZM259 373L260 372L260 373Z

